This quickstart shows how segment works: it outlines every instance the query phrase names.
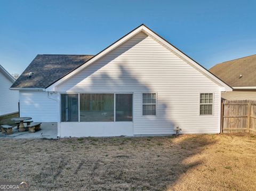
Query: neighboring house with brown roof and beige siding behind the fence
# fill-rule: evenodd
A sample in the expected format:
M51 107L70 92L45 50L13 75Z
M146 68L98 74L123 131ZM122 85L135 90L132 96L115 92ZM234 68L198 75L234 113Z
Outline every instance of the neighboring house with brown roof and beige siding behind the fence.
M210 72L233 88L233 92L221 94L227 100L256 100L255 71L256 55L216 64L210 69Z

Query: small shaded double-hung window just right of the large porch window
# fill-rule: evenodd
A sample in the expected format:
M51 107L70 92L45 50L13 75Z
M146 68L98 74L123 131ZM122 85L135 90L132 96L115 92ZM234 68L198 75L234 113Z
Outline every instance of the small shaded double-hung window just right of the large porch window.
M142 115L156 115L156 94L142 94Z

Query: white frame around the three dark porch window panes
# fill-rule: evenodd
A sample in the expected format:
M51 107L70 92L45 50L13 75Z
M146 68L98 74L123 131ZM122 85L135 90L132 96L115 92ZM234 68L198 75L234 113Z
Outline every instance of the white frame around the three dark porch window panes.
M78 94L78 121L61 121L61 94ZM69 122L83 122L86 123L87 121L80 121L80 94L114 94L114 121L103 121L103 122L132 122L134 120L134 92L59 92L59 103L60 103L60 123L69 123ZM116 121L116 94L132 94L132 121ZM102 121L92 121L94 122L102 122Z

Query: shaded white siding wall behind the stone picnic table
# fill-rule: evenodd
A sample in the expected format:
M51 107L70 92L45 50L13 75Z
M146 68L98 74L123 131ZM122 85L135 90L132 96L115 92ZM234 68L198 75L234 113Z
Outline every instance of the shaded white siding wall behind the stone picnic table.
M20 91L20 116L40 122L59 121L58 96L43 91Z

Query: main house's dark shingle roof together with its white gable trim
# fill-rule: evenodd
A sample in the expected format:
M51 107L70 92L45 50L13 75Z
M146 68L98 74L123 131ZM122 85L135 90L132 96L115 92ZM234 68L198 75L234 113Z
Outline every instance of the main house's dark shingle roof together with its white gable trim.
M45 88L46 91L54 92L55 86L60 85L63 81L66 81L70 77L74 76L76 73L82 71L90 64L99 60L102 56L105 56L110 51L113 51L116 47L123 44L125 41L129 40L133 36L137 35L139 32L145 32L148 36L155 39L159 44L163 45L175 55L179 56L182 60L190 64L193 68L203 73L207 78L214 81L220 87L222 87L222 91L231 91L232 88L225 84L225 82L221 81L219 78L215 77L211 72L202 67L202 65L198 64L196 61L191 59L185 53L181 52L178 48L174 47L168 41L157 35L154 31L150 30L144 24L141 24L139 27L133 29L127 35L123 36L119 40L115 41L115 43L111 44L107 48L103 49L103 51L99 52L95 56L88 55L84 62L77 61L75 63L73 61L71 55L47 55L48 59L42 59L38 55L28 66L28 68L21 74L20 78L13 84L11 88ZM56 56L56 57L50 57ZM58 57L59 56L59 57ZM70 56L68 58L61 56ZM76 56L87 56L87 55L76 55ZM82 59L81 57L81 59ZM63 61L61 60L63 59ZM79 60L79 59L76 59ZM63 69L62 69L63 67ZM34 70L34 71L33 71ZM29 72L34 72L31 78L28 78ZM34 79L33 79L34 78Z

